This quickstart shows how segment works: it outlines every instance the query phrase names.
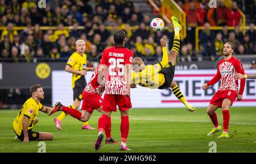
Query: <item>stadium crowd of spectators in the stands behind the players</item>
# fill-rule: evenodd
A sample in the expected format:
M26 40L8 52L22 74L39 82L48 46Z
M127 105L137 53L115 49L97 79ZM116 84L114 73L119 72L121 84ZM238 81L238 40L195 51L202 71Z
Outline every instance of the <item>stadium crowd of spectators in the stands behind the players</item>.
M166 37L172 43L172 24L161 32L150 29L151 18L143 15L131 1L46 1L45 8L35 7L31 0L0 0L0 61L35 62L37 60L66 61L75 49L78 38L86 41L88 66L96 61L96 55L106 47L113 46L113 33L124 29L127 33L127 48L135 57L157 61L162 57L159 43ZM155 1L159 6L160 1ZM187 38L181 42L178 61L216 60L222 55L225 41L236 46L236 54L256 53L254 24L245 35L240 30L237 3L228 10L218 3L217 8L208 8L208 1L177 1L187 14ZM247 4L247 3L246 3ZM255 5L254 5L255 6ZM254 11L252 11L254 12ZM222 14L221 14L222 13ZM224 14L226 13L226 14ZM232 16L232 18L229 18ZM234 20L233 20L234 19ZM204 25L200 32L200 52L195 52L195 27ZM224 26L222 31L211 31L210 26ZM234 31L228 25L236 27ZM14 27L25 27L14 30ZM40 29L57 27L57 29ZM71 27L67 29L65 27ZM82 29L80 29L82 27ZM171 47L172 45L169 45Z

